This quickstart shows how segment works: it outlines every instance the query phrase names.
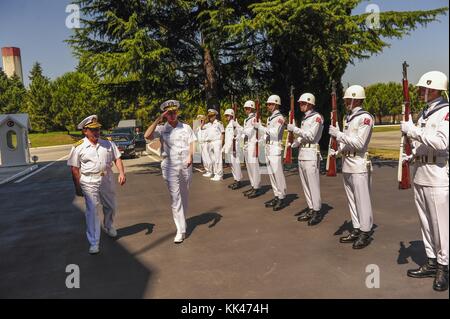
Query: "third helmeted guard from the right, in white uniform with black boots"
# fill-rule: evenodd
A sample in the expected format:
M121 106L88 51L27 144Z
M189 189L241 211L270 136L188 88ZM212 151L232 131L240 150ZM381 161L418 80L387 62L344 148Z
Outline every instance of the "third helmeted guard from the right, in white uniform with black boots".
M311 93L304 93L298 100L300 111L305 114L301 127L288 124L287 129L298 135L292 145L299 147L298 170L305 193L308 208L298 218L298 221L308 221L309 226L322 221L322 200L320 197L320 146L323 132L323 117L314 110L316 98Z

